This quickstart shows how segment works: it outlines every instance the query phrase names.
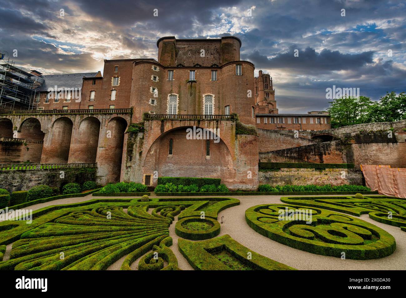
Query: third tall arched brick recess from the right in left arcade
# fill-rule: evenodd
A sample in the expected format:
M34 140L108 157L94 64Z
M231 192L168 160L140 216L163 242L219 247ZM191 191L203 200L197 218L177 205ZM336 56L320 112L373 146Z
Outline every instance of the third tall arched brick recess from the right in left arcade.
M41 163L67 163L71 145L73 122L67 117L54 121L45 136Z

